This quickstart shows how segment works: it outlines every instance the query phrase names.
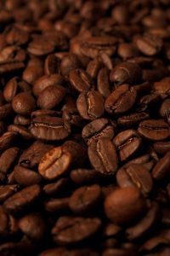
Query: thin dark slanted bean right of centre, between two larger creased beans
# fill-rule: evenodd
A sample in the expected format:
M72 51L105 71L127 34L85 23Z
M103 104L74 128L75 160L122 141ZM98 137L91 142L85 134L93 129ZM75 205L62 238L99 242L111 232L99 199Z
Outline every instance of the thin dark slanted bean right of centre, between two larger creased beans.
M150 115L149 113L146 113L146 112L131 113L118 118L117 123L122 127L130 128L135 125L138 125L144 119L149 119L149 118L150 118Z

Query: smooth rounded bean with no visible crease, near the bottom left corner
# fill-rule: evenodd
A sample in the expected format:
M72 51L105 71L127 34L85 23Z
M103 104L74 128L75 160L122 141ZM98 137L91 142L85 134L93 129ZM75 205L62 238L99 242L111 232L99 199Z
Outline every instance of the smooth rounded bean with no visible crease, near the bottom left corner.
M46 224L40 213L33 212L20 218L19 228L33 241L40 241L45 235Z

